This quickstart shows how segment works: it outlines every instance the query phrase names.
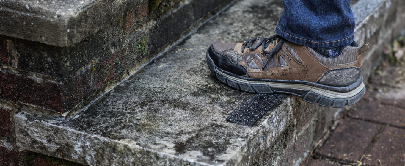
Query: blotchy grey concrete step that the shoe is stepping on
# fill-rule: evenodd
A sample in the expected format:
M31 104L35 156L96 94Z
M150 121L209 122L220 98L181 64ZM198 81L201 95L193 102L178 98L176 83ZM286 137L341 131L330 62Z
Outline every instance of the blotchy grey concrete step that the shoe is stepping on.
M356 40L373 44L363 55L364 77L384 41L403 30L404 6L401 0L354 4ZM21 111L14 117L17 146L88 165L300 164L341 109L234 90L212 77L205 61L216 40L274 34L282 10L279 0L240 0L84 111L68 119ZM245 125L226 121L235 110L263 116L247 116L255 123Z

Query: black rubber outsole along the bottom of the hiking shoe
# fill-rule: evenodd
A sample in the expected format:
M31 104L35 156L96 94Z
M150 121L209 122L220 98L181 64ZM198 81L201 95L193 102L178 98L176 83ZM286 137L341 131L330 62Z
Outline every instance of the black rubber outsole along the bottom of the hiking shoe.
M211 70L211 73L222 83L225 83L226 85L234 88L241 90L243 92L249 92L249 93L261 93L261 94L272 94L274 92L277 93L285 93L285 94L292 94L298 97L303 98L304 101L312 103L312 104L318 104L320 106L333 106L334 108L343 108L344 106L351 106L358 102L366 92L365 87L356 95L350 97L350 98L344 98L344 99L337 99L337 98L329 98L326 96L323 96L321 94L317 94L315 92L311 91L306 91L306 90L299 90L299 89L292 89L292 88L278 88L278 87L271 87L268 85L263 85L263 84L252 84L252 83L243 83L239 82L234 79L230 79L229 76L222 74L221 72L218 72L217 70L221 70L220 68L217 68L214 64L214 62L211 60L211 57L209 57L209 54L207 52L207 64L209 67L209 70ZM226 71L222 71L226 72ZM239 76L239 78L243 79L242 76Z

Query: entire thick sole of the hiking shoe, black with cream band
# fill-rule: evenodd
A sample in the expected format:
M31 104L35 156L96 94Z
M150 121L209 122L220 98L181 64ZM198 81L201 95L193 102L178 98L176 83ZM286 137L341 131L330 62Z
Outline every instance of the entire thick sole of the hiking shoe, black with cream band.
M286 83L286 80L251 79L218 68L215 66L213 60L211 60L208 52L207 64L211 73L218 80L234 89L249 93L272 94L277 92L292 94L303 98L306 102L312 104L318 103L320 106L333 106L334 108L342 108L346 105L351 106L358 102L366 92L362 78L358 80L361 83L355 83L357 86L347 87L332 87L318 83L308 83L307 81L290 81L294 83ZM347 88L350 91L339 92L339 90ZM333 91L330 89L338 90Z

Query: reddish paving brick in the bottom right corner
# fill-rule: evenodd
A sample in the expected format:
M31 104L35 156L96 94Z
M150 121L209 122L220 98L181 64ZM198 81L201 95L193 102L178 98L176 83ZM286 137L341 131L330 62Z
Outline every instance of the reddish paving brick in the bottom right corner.
M379 134L377 141L369 154L371 161L367 164L379 166L404 166L405 165L405 130L387 127Z

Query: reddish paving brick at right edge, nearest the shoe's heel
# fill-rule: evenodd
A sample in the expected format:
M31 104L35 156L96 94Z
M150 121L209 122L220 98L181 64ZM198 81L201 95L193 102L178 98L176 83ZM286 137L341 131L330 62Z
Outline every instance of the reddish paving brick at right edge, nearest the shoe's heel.
M350 116L394 126L405 126L404 109L396 106L387 106L379 102L358 103Z

